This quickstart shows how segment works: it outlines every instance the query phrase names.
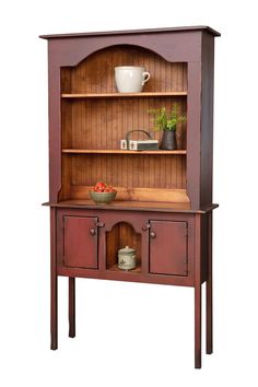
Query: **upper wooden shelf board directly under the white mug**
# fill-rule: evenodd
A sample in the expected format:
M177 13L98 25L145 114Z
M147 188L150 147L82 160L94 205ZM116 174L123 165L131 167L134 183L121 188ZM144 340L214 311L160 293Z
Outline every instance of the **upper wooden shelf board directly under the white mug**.
M62 94L62 98L122 98L122 97L159 97L159 96L185 96L187 92L142 92L142 93L73 93Z

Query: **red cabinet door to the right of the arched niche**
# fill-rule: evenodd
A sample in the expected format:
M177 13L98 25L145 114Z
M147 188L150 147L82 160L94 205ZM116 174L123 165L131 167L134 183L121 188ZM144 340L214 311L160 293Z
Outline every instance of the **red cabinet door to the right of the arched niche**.
M150 272L187 275L187 222L150 224Z

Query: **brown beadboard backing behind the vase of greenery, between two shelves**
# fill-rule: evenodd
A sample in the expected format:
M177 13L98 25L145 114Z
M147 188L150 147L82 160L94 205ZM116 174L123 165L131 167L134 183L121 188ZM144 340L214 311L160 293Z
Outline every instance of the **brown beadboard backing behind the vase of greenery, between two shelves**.
M63 143L73 149L119 149L120 140L130 130L145 130L160 140L162 132L153 130L152 108L177 106L178 115L186 115L186 97L121 97L81 98L62 102ZM177 148L186 149L186 124L177 125ZM146 139L133 133L131 139Z

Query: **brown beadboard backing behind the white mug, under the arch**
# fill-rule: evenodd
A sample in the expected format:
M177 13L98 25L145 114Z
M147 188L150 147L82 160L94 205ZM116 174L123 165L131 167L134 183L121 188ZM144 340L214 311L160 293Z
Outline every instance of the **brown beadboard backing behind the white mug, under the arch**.
M151 73L144 92L186 92L187 63L169 62L150 49L114 45L99 49L78 66L61 68L62 93L114 93L116 66L141 66Z

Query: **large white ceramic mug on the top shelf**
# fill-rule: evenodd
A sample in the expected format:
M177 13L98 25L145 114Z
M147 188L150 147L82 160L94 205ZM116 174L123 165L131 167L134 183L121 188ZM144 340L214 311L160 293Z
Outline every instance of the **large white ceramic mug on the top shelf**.
M119 93L140 93L151 74L144 67L115 67L115 80Z

